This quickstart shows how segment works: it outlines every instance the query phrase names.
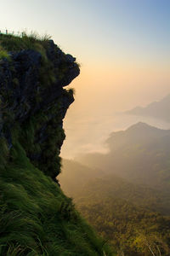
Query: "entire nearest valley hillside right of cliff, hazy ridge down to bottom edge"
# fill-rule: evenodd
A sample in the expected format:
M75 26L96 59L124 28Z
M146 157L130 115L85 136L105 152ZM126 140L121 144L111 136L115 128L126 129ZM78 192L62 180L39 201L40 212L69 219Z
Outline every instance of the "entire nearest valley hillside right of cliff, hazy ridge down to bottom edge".
M99 235L111 241L117 255L151 255L150 248L155 255L160 255L159 250L161 255L169 255L169 194L81 166L72 160L63 161L61 188L73 196L79 211Z

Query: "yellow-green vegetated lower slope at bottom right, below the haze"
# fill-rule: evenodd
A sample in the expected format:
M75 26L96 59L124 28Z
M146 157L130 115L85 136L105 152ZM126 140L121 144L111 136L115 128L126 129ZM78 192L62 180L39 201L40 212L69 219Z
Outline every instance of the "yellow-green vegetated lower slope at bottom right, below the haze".
M87 187L89 190L89 188ZM109 239L118 255L169 255L170 217L138 207L114 196L79 196L77 207L100 236Z

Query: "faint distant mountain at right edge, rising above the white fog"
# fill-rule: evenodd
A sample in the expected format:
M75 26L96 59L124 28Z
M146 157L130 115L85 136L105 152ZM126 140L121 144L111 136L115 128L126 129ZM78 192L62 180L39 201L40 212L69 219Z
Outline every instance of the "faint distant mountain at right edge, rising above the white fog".
M162 119L164 121L169 122L170 112L170 95L167 95L159 102L151 102L146 107L136 107L128 110L126 113L141 115L141 116L150 116L156 119Z

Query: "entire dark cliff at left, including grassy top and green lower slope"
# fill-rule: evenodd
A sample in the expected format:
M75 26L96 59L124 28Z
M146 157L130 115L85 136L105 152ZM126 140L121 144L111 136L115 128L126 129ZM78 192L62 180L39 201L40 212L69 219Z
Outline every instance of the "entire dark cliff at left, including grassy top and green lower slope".
M79 73L48 38L0 35L0 255L112 255L55 178Z

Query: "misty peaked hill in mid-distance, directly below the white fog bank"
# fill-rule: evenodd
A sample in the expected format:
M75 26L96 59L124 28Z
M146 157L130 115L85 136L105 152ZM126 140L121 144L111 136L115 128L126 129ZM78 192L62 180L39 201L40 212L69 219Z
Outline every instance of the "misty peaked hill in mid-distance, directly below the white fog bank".
M77 160L133 183L170 189L169 130L138 123L126 131L112 132L106 143L110 148L108 154L85 154Z

